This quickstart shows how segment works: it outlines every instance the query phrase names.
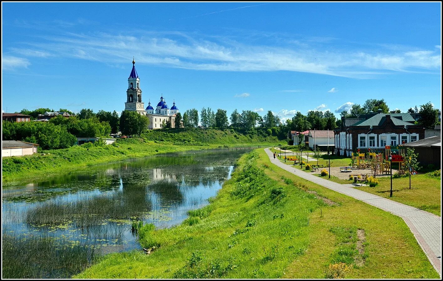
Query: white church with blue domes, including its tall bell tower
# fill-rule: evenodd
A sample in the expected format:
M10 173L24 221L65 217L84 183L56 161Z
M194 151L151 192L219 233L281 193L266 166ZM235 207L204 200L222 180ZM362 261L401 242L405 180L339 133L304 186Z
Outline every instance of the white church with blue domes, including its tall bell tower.
M132 71L128 78L128 90L126 91L124 110L136 111L141 115L146 115L149 118L149 129L160 129L162 128L163 122L166 123L167 121L171 123L171 127L175 128L175 116L179 112L179 109L175 106L175 101L171 108L169 108L162 95L155 109L152 107L151 101L149 101L148 107L146 109L144 108L144 102L141 98L140 78L138 77L135 64L136 62L133 59Z

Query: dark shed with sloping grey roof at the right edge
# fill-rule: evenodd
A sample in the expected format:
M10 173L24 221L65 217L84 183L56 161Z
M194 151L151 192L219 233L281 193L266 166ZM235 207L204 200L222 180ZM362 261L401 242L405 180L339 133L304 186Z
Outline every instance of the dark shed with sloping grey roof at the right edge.
M414 152L418 153L417 161L420 162L420 165L433 164L435 167L441 166L441 135L420 139L416 142L408 142L404 146L413 148Z

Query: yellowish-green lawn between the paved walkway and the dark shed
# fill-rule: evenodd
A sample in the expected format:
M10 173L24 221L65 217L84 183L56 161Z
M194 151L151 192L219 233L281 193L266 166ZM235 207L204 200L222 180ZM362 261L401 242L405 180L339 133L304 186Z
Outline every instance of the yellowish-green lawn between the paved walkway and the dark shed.
M409 189L409 177L392 178L392 197L389 197L391 178L377 177L377 179L379 184L375 187L356 188L441 216L440 177L431 177L428 174L412 175L411 189Z

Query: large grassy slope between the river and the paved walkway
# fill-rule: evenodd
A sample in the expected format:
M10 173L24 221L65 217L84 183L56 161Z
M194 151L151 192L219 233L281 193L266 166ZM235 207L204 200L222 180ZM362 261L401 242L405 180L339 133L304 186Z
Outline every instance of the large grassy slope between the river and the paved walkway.
M438 278L399 217L272 165L263 149L153 248L109 254L74 278Z

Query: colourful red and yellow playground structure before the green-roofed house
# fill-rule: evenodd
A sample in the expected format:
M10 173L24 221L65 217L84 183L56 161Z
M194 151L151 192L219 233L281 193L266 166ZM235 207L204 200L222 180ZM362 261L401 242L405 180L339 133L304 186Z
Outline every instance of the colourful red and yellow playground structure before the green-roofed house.
M352 154L351 165L352 168L356 169L371 169L374 176L377 174L389 174L390 173L390 165L398 163L398 173L405 173L405 162L402 154L405 154L404 145L399 146L385 146L384 155L379 152L371 152L371 149L368 149L367 153L360 153L358 149L356 153ZM389 155L392 156L392 161L389 161ZM416 171L411 171L412 173L416 173Z

